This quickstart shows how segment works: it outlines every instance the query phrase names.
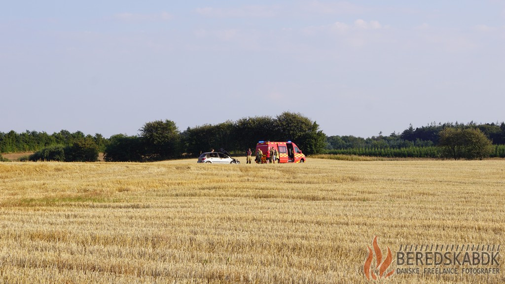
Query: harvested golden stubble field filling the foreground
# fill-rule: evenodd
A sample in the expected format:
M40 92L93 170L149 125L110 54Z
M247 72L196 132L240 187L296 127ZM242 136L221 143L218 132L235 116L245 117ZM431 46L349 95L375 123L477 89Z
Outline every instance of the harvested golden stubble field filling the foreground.
M505 245L503 160L9 162L0 181L2 283L365 283L375 235ZM377 282L499 283L499 260Z

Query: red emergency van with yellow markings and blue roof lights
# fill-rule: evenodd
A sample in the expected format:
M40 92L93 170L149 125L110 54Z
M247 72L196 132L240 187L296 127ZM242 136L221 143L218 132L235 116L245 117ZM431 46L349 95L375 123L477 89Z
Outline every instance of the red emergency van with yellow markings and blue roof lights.
M270 151L272 147L279 151L279 163L305 163L305 161L307 161L307 158L301 153L298 146L291 141L259 141L256 145L256 153L261 150L263 152L263 156L261 161L256 161L256 163L267 163L267 151Z

